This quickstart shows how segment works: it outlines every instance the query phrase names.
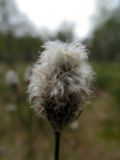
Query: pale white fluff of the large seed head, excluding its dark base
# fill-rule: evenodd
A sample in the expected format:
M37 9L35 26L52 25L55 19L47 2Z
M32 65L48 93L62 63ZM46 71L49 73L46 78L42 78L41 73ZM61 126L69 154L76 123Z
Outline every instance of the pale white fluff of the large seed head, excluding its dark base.
M60 107L72 94L79 99L77 103L85 102L91 93L94 75L88 64L86 48L80 43L49 41L45 43L44 49L32 69L28 87L33 108L37 113L46 111L45 103L48 99L55 101L55 106ZM78 112L80 110L82 105L78 107Z

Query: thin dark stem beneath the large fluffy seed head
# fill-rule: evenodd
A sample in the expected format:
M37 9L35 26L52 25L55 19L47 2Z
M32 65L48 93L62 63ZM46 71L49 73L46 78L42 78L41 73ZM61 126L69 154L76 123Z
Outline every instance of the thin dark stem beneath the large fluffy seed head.
M60 131L55 132L55 160L59 160L59 153L60 153Z

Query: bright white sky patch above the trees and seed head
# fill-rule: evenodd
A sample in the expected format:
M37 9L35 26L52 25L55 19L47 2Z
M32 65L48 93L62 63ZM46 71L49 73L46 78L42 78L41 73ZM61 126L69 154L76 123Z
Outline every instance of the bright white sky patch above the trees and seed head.
M95 0L16 0L29 19L40 28L55 31L62 22L73 22L75 33L85 37L92 28Z

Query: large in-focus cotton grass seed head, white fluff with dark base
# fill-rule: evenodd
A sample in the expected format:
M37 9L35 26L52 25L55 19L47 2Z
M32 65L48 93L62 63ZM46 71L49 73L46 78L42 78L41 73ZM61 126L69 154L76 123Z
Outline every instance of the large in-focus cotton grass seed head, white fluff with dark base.
M29 100L55 130L61 130L82 112L94 72L80 43L49 41L44 49L32 69Z

